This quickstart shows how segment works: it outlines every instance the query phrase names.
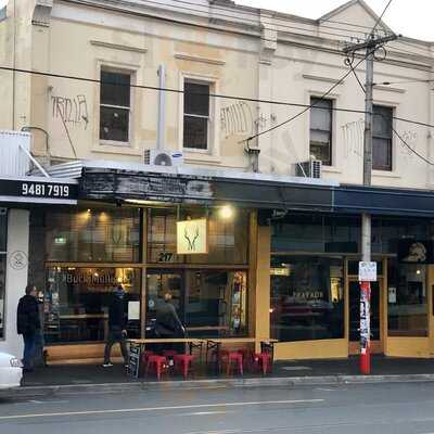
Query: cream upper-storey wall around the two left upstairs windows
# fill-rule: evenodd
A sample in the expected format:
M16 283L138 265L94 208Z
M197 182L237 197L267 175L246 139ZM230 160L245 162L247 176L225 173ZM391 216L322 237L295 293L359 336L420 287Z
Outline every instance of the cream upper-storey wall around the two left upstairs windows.
M85 13L86 12L86 13ZM256 97L257 41L240 41L228 34L209 34L203 29L173 26L133 15L84 10L54 4L47 67L55 74L99 79L101 65L133 72L133 82L158 86L158 65L166 66L166 87L182 88L182 77L215 82L212 92ZM42 49L42 48L38 48ZM131 141L129 145L102 144L99 140L99 85L63 78L49 78L44 89L34 93L36 106L43 108L55 158L105 158L140 162L144 149L155 148L158 92L150 89L132 90ZM65 100L72 104L72 119L62 122L60 113ZM84 102L85 101L85 102ZM188 164L224 165L244 170L247 159L239 141L245 132L255 132L257 104L243 104L247 122L225 127L222 111L240 104L237 100L212 99L212 131L214 148L210 153L187 152ZM75 117L75 107L87 120ZM71 105L69 105L71 107ZM69 110L69 108L68 108ZM240 108L238 108L240 110ZM225 112L225 113L227 113ZM232 112L229 113L234 118ZM69 113L67 113L67 116ZM182 95L166 92L166 148L182 146ZM74 120L74 122L71 122ZM248 124L248 125L247 125ZM67 131L66 131L67 129ZM244 136L243 136L244 133ZM72 144L73 146L72 146Z

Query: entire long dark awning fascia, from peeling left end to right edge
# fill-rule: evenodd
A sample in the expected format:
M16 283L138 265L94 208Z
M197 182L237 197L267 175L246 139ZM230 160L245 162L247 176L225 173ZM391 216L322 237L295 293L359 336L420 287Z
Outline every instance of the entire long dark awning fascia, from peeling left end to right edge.
M164 203L232 203L260 209L340 214L434 216L434 193L362 186L328 186L254 178L224 178L84 167L80 199Z

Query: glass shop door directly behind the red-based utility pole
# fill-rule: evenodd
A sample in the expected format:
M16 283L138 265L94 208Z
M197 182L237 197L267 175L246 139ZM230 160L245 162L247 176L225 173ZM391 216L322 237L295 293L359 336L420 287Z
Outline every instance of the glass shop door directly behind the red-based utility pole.
M371 282L371 349L372 353L382 353L381 331L381 288L383 280ZM360 284L350 280L348 284L349 299L349 354L357 354L360 341Z

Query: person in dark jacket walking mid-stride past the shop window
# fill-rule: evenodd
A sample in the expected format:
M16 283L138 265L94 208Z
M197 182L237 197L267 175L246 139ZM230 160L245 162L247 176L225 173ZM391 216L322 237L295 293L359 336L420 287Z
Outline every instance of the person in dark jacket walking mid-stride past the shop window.
M104 368L112 367L113 363L110 361L112 346L119 343L122 355L124 357L124 363L127 366L128 362L128 350L127 350L127 331L126 319L125 319L125 304L124 304L125 292L122 285L116 288L112 303L108 308L108 336L104 349Z

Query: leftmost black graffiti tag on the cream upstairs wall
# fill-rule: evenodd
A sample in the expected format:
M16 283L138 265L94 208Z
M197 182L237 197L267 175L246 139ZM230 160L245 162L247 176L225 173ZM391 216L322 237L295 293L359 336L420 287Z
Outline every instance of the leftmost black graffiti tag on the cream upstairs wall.
M52 116L60 118L64 124L72 126L82 125L85 129L89 124L89 112L86 97L78 94L75 98L51 97Z

